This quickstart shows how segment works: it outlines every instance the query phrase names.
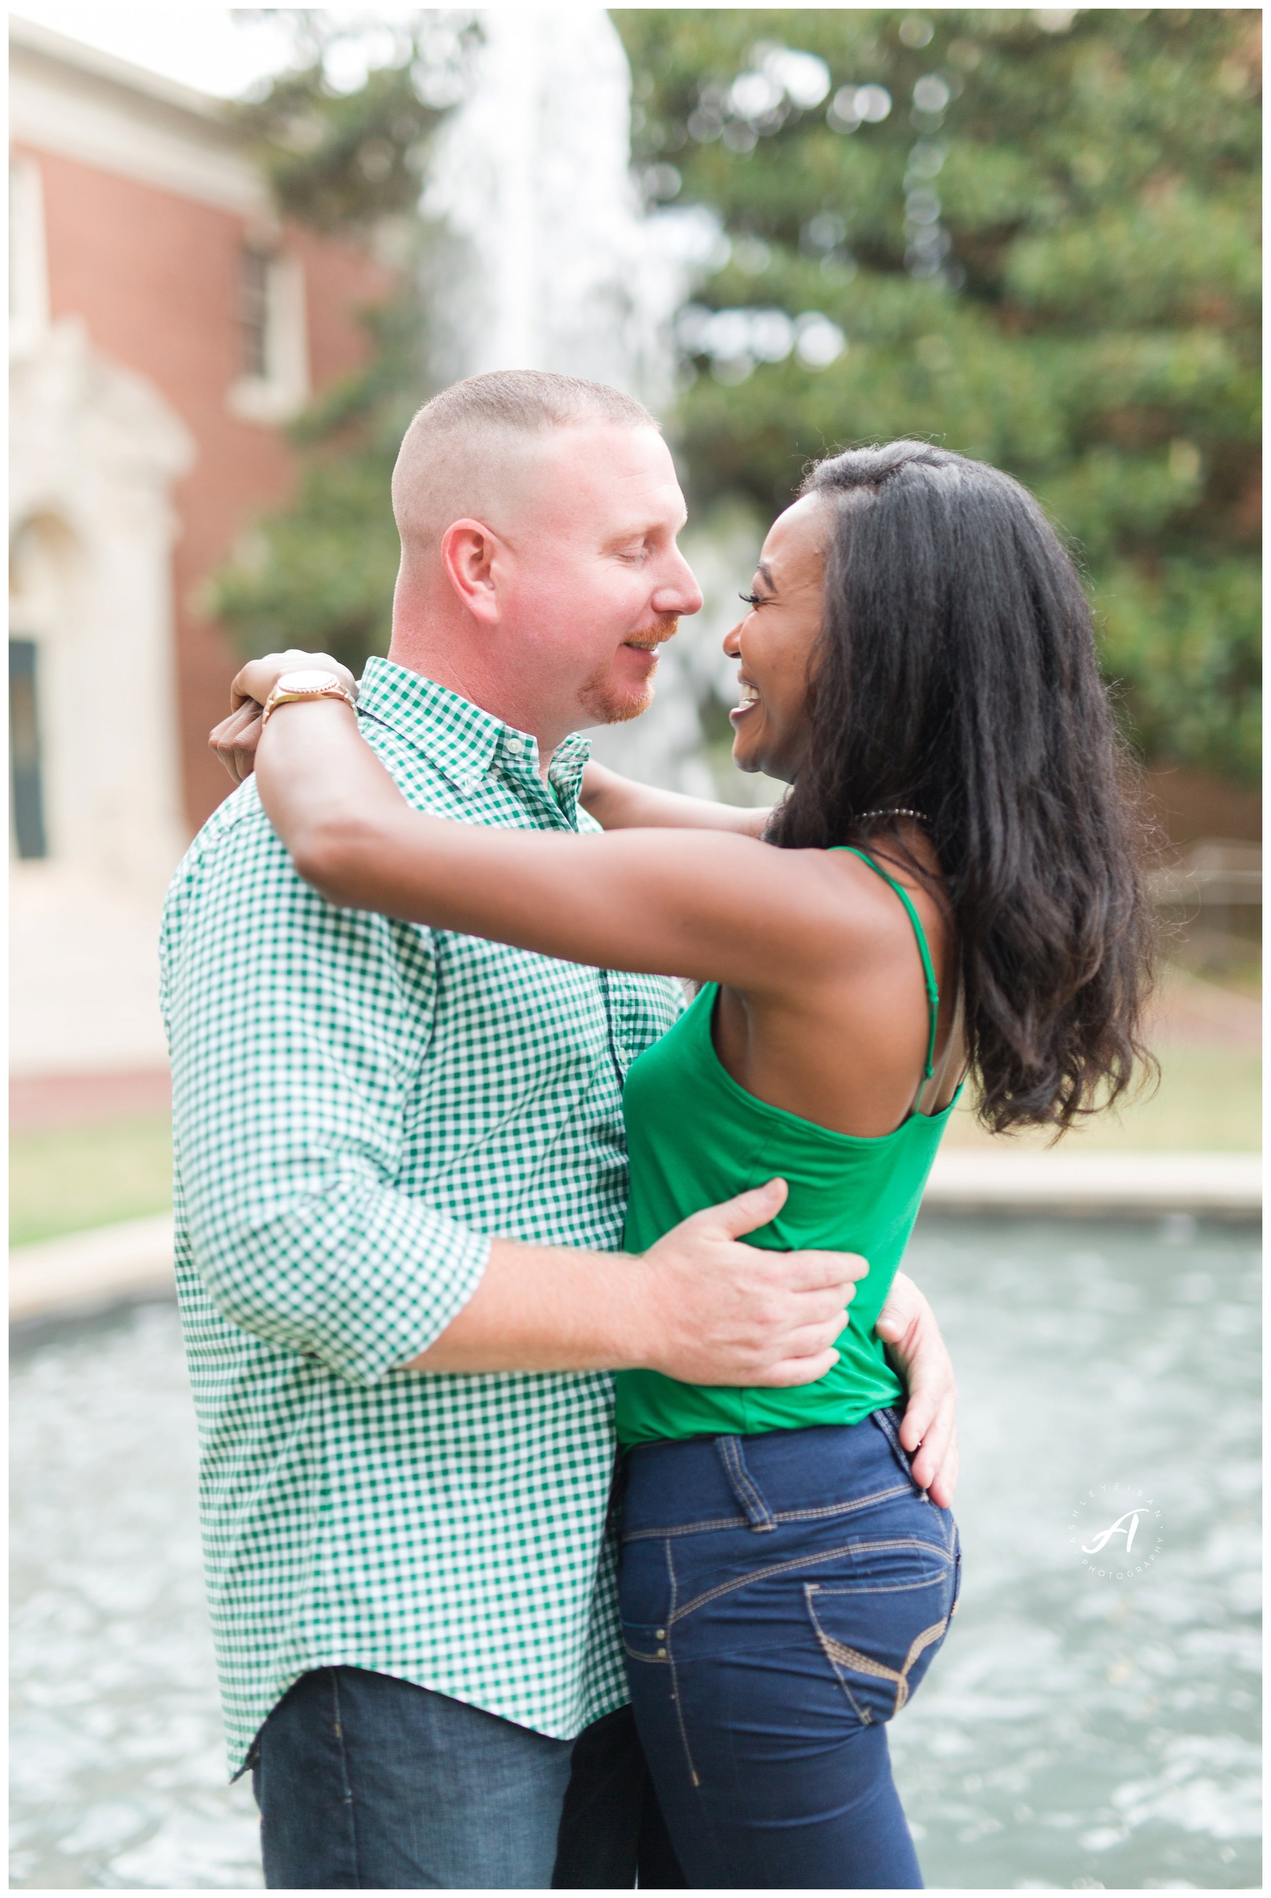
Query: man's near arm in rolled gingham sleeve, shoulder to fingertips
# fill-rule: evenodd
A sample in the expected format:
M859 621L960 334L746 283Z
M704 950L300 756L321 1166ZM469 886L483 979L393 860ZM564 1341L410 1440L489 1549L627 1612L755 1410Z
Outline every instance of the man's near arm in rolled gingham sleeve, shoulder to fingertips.
M322 903L250 805L190 871L165 972L176 1156L226 1317L359 1384L624 1365L802 1384L833 1365L865 1262L740 1245L782 1182L643 1258L491 1241L400 1192L431 983L427 932Z

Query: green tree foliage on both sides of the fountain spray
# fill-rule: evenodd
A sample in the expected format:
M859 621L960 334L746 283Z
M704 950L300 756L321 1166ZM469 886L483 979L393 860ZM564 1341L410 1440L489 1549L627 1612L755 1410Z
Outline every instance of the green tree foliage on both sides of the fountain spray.
M694 514L742 499L768 516L808 457L854 440L994 461L1074 543L1142 750L1250 782L1260 15L613 17L651 201L721 232L677 323ZM341 91L330 15L294 19L300 70L245 116L283 209L322 230L396 216L425 241L404 213L474 28L417 15ZM370 366L294 429L296 501L220 575L245 649L383 651L387 476L429 393L417 283L412 262Z

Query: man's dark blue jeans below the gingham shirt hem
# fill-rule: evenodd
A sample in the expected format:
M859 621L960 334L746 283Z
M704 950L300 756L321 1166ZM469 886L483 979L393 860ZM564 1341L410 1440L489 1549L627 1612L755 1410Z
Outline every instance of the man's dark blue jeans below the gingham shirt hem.
M630 1708L552 1740L389 1674L319 1668L260 1729L252 1788L273 1890L630 1889L637 1866L641 1887L683 1885Z

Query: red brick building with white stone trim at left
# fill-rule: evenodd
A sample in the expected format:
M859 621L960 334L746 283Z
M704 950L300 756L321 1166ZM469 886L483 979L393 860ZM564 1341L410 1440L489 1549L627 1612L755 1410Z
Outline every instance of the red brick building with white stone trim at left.
M218 101L19 21L9 78L13 1065L146 1069L161 888L228 790L201 583L391 277L279 224Z

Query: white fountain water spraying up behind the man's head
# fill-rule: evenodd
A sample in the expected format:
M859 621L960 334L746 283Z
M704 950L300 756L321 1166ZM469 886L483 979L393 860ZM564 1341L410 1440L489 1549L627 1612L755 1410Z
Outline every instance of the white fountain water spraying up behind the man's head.
M605 11L489 8L480 25L467 99L438 137L423 194L433 376L444 385L544 368L613 383L664 414L672 317L717 226L702 213L645 213L630 165L632 74ZM653 708L594 733L598 757L713 795L696 651L709 630L685 628L664 649Z

